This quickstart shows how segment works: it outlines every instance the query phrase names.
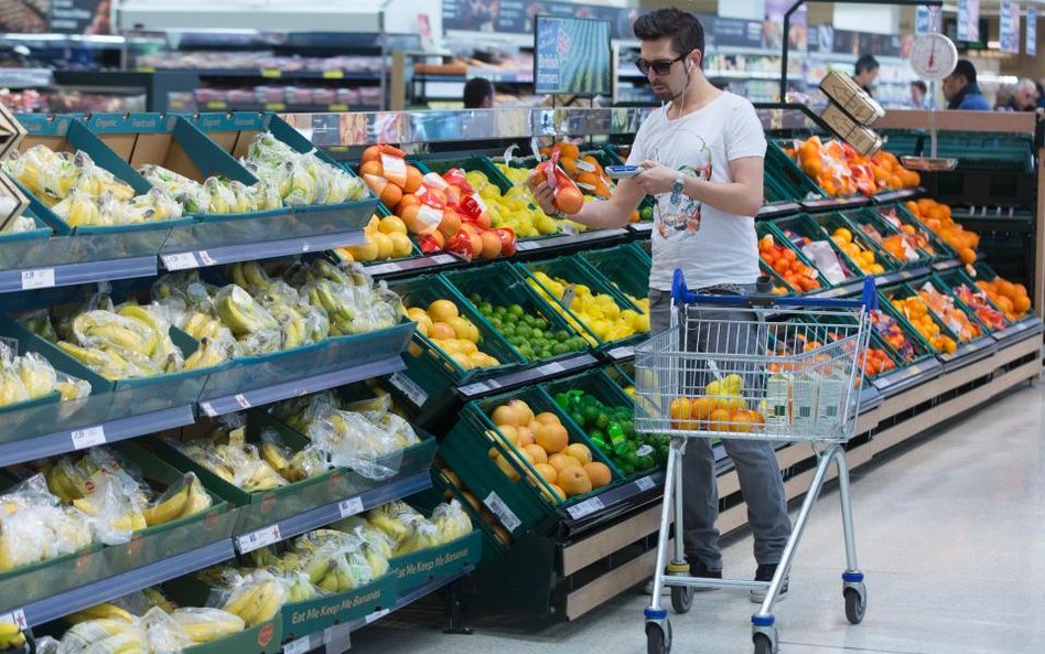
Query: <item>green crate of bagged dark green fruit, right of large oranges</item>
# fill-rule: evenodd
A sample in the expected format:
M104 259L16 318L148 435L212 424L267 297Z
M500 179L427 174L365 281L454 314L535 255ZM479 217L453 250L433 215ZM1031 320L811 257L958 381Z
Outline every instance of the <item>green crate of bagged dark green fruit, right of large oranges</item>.
M580 407L578 407L578 410L571 410L560 404L560 400L565 400L569 405L571 390L582 390L611 409L617 407L627 409L628 415L634 420L636 400L624 393L603 371L589 371L575 377L542 384L541 389L567 416L570 427L583 433L595 449L610 461L614 478L627 480L640 476L661 468L667 461L667 438L638 435L633 425L625 424L620 426L622 433L618 438L621 440L616 441L611 433L613 428L611 417L586 415L581 412ZM656 444L648 444L655 441L657 441ZM644 457L648 457L649 461L644 463L644 457L637 455L636 452L642 451L643 447L647 444L650 452L644 454Z

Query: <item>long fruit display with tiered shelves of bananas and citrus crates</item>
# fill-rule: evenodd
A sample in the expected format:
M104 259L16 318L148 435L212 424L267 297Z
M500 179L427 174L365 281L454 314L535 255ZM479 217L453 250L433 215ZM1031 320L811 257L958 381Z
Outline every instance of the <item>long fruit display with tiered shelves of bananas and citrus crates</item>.
M768 288L879 286L851 467L1038 375L1041 208L987 223L946 174L761 112L790 126L768 135ZM651 206L585 230L521 183L539 167L560 206L599 202L644 114L4 116L24 211L0 235L0 623L99 651L305 652L448 585L451 609L571 620L645 580L667 439L634 420L668 411L632 397ZM1003 154L957 174L1041 202L1042 126L1001 118L977 129ZM920 148L909 127L891 147ZM992 256L1010 232L1037 239L1026 268ZM833 337L808 333L773 346ZM763 429L765 407L722 397L671 418ZM744 510L719 457L729 532ZM795 496L812 453L778 458Z

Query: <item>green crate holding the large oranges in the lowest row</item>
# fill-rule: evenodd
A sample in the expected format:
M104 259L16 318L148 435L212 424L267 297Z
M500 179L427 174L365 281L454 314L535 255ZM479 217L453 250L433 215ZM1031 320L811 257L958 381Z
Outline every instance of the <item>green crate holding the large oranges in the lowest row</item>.
M465 405L456 425L443 441L440 455L450 468L461 478L465 486L480 498L500 519L505 528L513 535L538 529L556 510L582 502L599 493L592 491L586 495L568 497L565 502L554 500L553 491L534 468L513 448L499 430L494 426L488 415L496 407L510 399L521 399L536 414L550 411L559 416L562 426L567 429L570 443L581 443L588 447L594 461L608 465L607 460L599 452L575 426L558 409L551 400L537 387L520 392L513 392ZM514 480L489 457L496 450L510 467ZM611 468L611 471L613 469ZM621 481L615 476L611 485ZM600 489L601 490L601 489Z

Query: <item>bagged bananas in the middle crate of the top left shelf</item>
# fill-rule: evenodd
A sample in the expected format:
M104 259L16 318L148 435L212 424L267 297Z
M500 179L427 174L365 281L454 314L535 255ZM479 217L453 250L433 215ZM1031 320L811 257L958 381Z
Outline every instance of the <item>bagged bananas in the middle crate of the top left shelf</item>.
M150 184L162 189L190 214L243 214L283 206L279 190L265 182L246 185L224 178L204 183L180 175L162 165L147 164L139 171Z

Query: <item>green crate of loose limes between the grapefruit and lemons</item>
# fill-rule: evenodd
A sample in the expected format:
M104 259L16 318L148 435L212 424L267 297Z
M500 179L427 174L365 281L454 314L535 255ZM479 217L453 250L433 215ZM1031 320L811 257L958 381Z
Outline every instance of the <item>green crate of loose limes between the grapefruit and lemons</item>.
M470 307L480 314L483 314L484 304L492 304L495 308L518 305L522 310L521 315L537 317L550 324L548 334L562 332L565 334L565 339L575 341L575 347L573 349L565 349L567 344L559 341L563 345L562 352L554 352L547 357L539 356L532 351L521 350L521 343L519 344L520 347L511 345L511 339L515 336L505 332L506 329L511 329L514 332L515 328L510 324L502 324L500 319L483 314L491 326L504 336L518 357L527 363L557 361L588 350L588 341L530 288L511 264L496 262L482 268L444 272L443 278L457 291L457 299L461 302L470 303Z

